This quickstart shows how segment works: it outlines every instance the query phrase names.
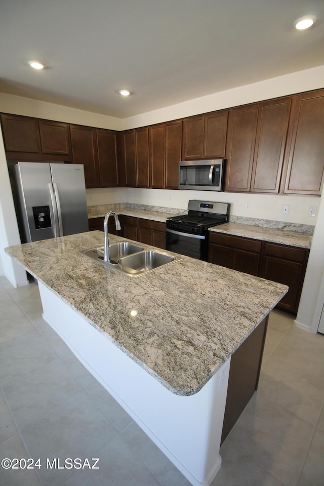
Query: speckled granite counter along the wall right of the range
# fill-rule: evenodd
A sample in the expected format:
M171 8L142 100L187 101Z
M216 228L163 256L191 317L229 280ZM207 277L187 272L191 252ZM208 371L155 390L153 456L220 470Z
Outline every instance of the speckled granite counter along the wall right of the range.
M210 228L216 233L227 233L246 238L261 239L300 248L310 248L312 235L285 229L266 228L242 223L224 223Z

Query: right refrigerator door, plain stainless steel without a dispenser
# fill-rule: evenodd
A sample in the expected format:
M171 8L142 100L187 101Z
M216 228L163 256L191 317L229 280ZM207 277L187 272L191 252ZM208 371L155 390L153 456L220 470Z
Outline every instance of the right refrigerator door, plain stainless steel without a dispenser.
M89 231L85 172L82 164L51 164L60 236Z

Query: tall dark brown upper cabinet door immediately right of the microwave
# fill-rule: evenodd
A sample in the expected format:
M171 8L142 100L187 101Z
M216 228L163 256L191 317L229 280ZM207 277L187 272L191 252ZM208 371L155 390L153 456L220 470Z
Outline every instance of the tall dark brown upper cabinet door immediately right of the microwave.
M258 105L229 111L225 190L249 192L257 132Z

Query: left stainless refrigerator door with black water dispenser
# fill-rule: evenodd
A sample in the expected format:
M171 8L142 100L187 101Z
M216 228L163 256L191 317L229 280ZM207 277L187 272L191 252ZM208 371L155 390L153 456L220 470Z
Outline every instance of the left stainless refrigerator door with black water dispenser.
M50 164L18 162L15 171L22 242L54 238L56 207L51 198Z

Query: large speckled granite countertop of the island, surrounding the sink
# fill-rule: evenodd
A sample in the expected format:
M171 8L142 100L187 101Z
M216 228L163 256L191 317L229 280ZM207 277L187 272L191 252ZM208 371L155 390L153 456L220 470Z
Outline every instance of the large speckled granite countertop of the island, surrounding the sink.
M103 242L91 231L6 252L176 394L199 391L288 290L185 256L130 278L78 253Z

